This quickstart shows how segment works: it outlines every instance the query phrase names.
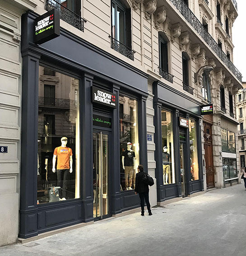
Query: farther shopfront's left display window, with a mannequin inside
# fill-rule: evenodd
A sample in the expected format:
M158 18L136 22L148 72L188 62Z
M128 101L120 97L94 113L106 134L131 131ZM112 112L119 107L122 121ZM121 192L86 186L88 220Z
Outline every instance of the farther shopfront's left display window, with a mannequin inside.
M175 183L172 113L162 109L163 184Z

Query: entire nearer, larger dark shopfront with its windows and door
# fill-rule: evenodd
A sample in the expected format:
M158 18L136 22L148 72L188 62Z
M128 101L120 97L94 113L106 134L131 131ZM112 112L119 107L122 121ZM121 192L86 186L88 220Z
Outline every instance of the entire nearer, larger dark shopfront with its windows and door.
M21 238L139 207L147 166L147 75L65 29L34 44L36 17L22 17Z

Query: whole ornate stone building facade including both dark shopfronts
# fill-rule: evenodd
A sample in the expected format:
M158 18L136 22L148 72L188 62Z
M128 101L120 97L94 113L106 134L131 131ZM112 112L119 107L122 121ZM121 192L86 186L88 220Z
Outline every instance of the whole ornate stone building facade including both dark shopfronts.
M33 20L53 8L60 11L60 37L35 44ZM9 153L0 157L0 182L9 185L0 195L1 221L8 227L0 233L0 245L16 241L18 233L25 239L138 208L134 181L131 188L125 185L121 164L127 142L136 163L155 179L152 206L238 182L235 94L241 73L233 64L235 0L97 0L96 5L91 0L11 0L1 10L3 46L13 50L1 53L5 121L0 121L0 140ZM61 81L68 91L57 87L63 88ZM122 105L131 103L119 111L92 104L90 87L128 97ZM73 111L76 106L81 113L73 118L72 101ZM213 115L201 116L200 106L209 104ZM60 109L64 113L56 114ZM107 118L110 127L100 130L94 115ZM97 173L93 159L98 132L105 145L123 135L132 140L109 146L113 157L107 171L112 173L105 186L104 169ZM76 161L68 185L71 200L49 204L48 188L56 185L53 150L61 136L68 138ZM107 156L107 146L103 149L101 160ZM11 225L6 212L14 217Z

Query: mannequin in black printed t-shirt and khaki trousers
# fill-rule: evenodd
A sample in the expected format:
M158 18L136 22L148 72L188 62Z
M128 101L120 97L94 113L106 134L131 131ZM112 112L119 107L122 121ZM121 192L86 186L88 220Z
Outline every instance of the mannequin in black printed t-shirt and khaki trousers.
M131 150L132 143L127 143L127 150L122 153L122 167L125 170L126 190L132 189L133 171L135 166L135 152Z

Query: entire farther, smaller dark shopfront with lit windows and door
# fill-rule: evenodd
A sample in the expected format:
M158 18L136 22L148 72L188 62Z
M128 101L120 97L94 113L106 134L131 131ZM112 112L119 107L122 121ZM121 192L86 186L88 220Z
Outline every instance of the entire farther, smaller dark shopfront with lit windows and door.
M153 83L157 202L204 190L200 105Z

